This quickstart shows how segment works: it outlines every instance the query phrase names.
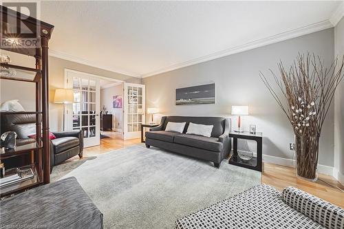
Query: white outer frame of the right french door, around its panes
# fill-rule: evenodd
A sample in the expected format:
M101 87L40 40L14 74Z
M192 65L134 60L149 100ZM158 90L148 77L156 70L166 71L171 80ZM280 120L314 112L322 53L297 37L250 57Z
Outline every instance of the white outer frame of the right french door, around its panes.
M140 138L141 130L138 129L137 131L129 132L128 131L128 87L141 87L142 88L142 124L146 123L146 86L136 83L123 83L123 140L133 139L133 138Z

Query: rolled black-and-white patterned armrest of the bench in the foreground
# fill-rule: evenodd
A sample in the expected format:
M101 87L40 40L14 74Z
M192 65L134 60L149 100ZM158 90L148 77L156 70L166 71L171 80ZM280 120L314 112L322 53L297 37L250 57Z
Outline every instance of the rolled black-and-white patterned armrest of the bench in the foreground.
M343 208L291 186L283 189L282 199L288 206L325 228L343 228Z

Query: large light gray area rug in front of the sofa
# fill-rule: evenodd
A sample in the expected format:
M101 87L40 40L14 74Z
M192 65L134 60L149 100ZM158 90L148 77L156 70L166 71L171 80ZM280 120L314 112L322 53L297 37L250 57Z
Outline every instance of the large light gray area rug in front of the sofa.
M105 228L173 228L176 219L261 180L261 173L227 161L215 168L144 144L55 166L54 179L61 175L78 179L103 212Z

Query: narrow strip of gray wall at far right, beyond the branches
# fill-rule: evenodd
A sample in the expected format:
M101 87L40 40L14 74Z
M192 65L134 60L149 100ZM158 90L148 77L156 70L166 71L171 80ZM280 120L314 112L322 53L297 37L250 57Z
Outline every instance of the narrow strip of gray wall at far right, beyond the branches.
M344 55L344 17L334 28L334 54ZM344 74L344 73L343 73ZM334 98L334 167L344 184L344 80L337 87Z

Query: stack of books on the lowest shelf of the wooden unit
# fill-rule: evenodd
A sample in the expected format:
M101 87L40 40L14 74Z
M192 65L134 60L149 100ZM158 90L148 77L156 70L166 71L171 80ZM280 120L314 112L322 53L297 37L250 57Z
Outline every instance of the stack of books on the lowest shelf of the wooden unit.
M5 177L0 179L0 188L18 184L33 177L32 168L10 168L6 171Z

